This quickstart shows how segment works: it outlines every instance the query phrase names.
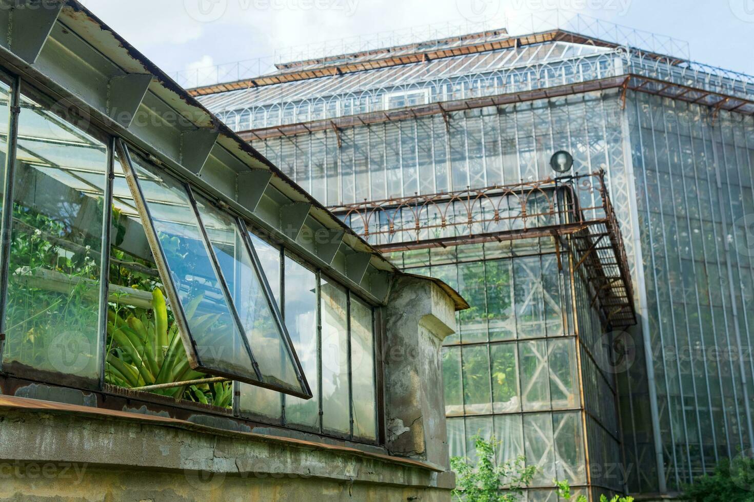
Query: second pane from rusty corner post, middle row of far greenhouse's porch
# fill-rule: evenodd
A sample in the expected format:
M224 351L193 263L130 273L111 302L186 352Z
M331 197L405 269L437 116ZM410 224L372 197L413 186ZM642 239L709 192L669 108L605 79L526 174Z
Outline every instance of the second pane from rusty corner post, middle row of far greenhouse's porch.
M530 340L519 343L521 365L521 400L523 410L550 409L550 385L547 382L547 343Z

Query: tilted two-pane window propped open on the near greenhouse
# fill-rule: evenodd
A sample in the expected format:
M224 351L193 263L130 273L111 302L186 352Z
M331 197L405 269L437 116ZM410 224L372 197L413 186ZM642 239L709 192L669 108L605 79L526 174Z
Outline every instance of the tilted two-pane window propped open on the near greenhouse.
M310 398L243 221L119 150L192 369Z

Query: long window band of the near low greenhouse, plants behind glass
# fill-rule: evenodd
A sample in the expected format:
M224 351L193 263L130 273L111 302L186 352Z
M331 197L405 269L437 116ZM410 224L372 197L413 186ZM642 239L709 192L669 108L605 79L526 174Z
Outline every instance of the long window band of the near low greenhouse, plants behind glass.
M3 373L377 442L372 306L31 87L0 92ZM299 361L314 396L284 399Z

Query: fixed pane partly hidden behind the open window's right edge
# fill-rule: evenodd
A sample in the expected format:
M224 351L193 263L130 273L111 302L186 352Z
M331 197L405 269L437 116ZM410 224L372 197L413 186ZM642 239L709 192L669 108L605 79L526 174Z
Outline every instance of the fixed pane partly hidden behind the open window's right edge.
M277 305L280 306L280 249L259 239L253 233L251 242L262 263L262 270L267 276L267 282L272 290ZM282 394L268 388L258 387L241 383L241 397L239 397L239 409L242 414L251 413L255 416L279 420L283 414Z

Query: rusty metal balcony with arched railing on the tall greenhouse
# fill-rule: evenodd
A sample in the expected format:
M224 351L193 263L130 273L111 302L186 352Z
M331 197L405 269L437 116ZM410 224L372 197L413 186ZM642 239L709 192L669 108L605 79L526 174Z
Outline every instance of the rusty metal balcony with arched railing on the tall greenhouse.
M636 324L628 259L605 172L330 208L380 251L554 239L575 256L614 327Z

